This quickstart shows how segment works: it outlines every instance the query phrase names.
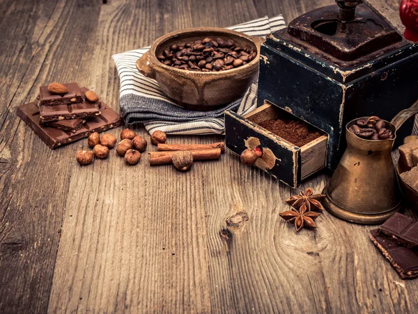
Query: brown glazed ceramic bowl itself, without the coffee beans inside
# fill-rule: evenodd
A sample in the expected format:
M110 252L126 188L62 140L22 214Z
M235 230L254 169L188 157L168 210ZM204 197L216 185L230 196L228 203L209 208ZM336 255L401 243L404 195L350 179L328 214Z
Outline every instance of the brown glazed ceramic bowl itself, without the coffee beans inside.
M247 65L220 72L196 72L164 65L157 59L172 44L202 40L203 38L232 39L244 48L257 52ZM242 97L258 76L260 47L263 38L252 37L225 28L189 28L155 40L144 56L137 60L139 72L154 78L160 88L176 104L194 110L212 110Z

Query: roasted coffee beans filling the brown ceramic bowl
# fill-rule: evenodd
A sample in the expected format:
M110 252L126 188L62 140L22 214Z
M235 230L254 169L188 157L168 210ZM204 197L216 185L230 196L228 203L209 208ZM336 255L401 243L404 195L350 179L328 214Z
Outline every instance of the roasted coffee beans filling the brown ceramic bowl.
M239 47L231 39L204 38L195 42L172 44L157 59L176 69L216 72L241 67L256 56L256 51Z

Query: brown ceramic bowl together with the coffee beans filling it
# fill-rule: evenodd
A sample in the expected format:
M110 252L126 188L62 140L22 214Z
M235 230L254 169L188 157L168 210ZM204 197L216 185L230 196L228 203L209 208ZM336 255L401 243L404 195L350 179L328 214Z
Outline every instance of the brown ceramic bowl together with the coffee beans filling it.
M262 42L225 28L189 28L155 40L137 68L176 104L212 110L239 99L256 81Z

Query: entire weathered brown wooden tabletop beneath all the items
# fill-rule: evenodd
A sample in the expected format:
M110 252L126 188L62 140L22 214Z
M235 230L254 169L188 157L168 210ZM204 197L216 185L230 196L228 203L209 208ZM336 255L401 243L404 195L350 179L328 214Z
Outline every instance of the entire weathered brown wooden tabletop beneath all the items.
M417 313L418 280L400 279L371 226L324 213L295 233L279 213L297 190L230 152L187 173L150 167L146 154L127 167L114 151L80 167L86 140L53 151L15 113L52 81L87 85L118 110L112 54L333 2L0 1L0 313Z

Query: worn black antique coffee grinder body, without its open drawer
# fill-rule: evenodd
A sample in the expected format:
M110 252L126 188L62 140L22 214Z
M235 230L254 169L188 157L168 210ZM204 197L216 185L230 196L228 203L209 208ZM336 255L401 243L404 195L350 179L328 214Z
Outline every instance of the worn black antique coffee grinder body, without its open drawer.
M297 17L261 47L257 105L269 101L325 131L330 170L350 120L390 121L418 98L418 45L362 2L336 0ZM411 130L410 122L398 138Z

